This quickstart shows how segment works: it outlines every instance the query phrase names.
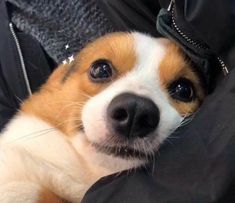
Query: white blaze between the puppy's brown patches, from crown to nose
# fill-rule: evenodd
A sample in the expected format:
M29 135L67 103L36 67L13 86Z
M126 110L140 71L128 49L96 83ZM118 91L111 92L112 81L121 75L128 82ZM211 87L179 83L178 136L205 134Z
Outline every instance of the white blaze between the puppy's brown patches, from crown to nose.
M145 94L147 87L160 90L158 68L166 55L169 40L153 38L141 33L133 33L136 63L126 75L116 82L116 86L124 85L126 91ZM121 82L123 81L123 82ZM126 84L128 83L128 86ZM148 95L145 95L148 96Z

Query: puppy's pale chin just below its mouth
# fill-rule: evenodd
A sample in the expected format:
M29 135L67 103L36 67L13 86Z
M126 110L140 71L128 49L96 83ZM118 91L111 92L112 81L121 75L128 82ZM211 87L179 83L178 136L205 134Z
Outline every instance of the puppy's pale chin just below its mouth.
M95 168L96 171L100 171L105 175L137 168L147 163L147 159L143 158L144 155L140 152L128 151L130 149L127 148L119 151L112 146L105 148L102 144L89 141L83 131L72 137L71 142L77 153L90 168ZM130 152L133 154L130 154Z

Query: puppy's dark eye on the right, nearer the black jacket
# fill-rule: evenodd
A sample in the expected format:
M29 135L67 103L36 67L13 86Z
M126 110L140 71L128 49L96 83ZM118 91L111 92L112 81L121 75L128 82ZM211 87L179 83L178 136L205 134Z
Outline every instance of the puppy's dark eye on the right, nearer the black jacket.
M191 102L196 96L192 82L185 78L174 81L168 91L173 99L182 102Z

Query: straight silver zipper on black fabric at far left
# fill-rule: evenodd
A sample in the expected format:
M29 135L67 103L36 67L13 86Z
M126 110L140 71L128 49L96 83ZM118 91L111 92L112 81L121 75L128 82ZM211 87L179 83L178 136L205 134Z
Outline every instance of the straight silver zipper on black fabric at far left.
M20 48L19 40L16 36L16 33L14 31L12 23L9 24L9 27L10 27L10 31L11 31L11 34L14 38L16 48L17 48L17 51L18 51L18 54L19 54L21 70L23 72L23 76L24 76L27 91L28 91L29 95L32 95L32 90L31 90L31 87L30 87L30 84L29 84L29 78L28 78L28 74L27 74L27 71L26 71L25 62L24 62L23 54L22 54L22 51L21 51L21 48Z

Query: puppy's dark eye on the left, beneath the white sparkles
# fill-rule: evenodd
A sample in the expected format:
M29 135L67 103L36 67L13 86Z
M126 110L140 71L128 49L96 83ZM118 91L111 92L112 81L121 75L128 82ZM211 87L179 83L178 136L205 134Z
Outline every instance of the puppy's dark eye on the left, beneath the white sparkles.
M90 68L89 76L94 82L106 82L113 76L113 66L107 60L97 60Z

